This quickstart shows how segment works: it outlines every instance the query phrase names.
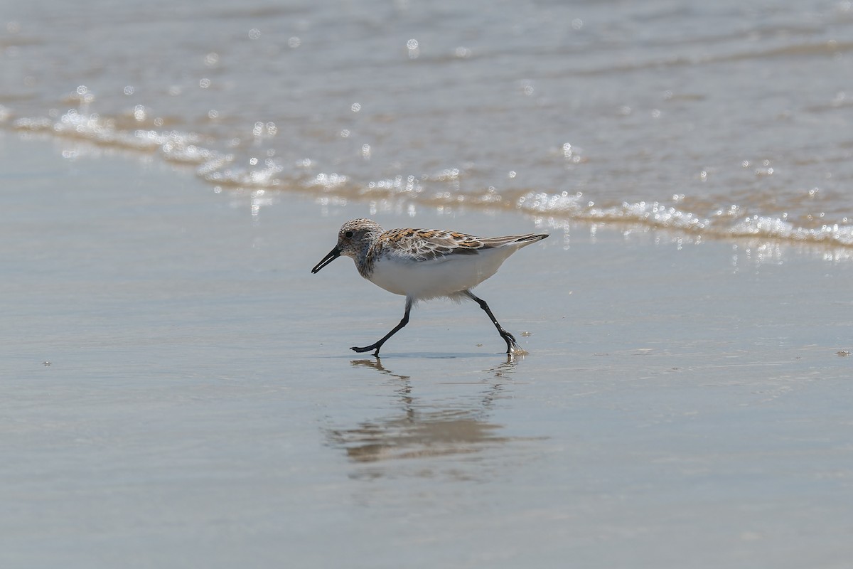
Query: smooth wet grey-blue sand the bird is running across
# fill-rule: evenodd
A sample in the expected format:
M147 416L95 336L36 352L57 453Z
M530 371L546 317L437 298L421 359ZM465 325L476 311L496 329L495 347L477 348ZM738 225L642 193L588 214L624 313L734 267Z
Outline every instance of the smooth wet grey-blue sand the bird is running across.
M0 133L3 566L842 567L853 267L572 224L419 305L368 205ZM376 216L480 234L528 218ZM529 334L529 335L528 335Z

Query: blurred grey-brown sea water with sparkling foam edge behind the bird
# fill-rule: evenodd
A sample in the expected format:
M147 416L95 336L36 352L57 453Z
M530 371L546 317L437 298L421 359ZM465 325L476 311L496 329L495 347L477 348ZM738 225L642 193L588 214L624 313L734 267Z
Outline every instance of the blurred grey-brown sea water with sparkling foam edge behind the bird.
M848 0L0 14L3 125L189 163L255 215L295 190L853 246Z

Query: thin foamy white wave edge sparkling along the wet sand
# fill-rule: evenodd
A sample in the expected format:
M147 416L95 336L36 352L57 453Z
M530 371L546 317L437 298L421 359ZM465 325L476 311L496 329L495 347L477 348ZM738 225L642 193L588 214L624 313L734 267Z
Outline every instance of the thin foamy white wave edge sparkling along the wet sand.
M200 134L121 128L119 119L77 109L70 109L57 119L11 119L11 116L8 108L0 106L0 124L10 125L15 131L44 133L98 146L155 154L172 163L194 165L196 175L218 189L299 191L316 195L326 203L332 199L408 203L439 208L479 207L517 211L555 220L639 225L711 238L749 237L853 247L853 224L824 224L808 228L785 218L758 213L745 215L738 206L712 212L704 217L661 201L598 206L581 192L528 191L522 195L509 196L489 188L479 193L464 194L458 188L461 173L456 169L359 182L338 172L313 171L313 164L308 159L291 165L282 164L271 148L267 150L264 160L238 159L239 149L233 152L212 149L217 141ZM256 152L257 148L253 148L253 151Z

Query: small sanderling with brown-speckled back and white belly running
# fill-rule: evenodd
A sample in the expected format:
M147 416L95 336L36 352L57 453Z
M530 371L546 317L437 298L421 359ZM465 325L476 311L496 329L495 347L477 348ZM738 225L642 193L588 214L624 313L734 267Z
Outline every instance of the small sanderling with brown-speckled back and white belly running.
M338 244L311 269L316 273L341 255L351 257L358 273L375 285L406 297L403 320L381 340L354 351L379 351L386 340L409 323L409 311L418 300L448 297L471 299L489 315L507 342L507 353L523 352L497 322L485 300L471 292L494 275L506 258L521 247L548 235L529 233L505 237L475 237L439 229L391 229L386 231L371 219L352 219L338 233Z

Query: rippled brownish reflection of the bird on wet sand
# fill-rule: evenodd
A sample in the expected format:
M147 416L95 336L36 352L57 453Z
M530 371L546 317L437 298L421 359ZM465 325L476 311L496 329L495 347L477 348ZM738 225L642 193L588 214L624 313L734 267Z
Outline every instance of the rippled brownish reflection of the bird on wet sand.
M518 358L486 369L486 378L479 381L485 389L471 397L455 399L456 404L429 405L413 395L410 376L396 374L378 359L356 360L356 368L375 369L398 383L400 411L374 421L363 421L350 429L330 429L328 440L346 450L354 462L375 463L393 459L440 457L479 453L495 445L505 444L517 437L499 434L502 425L489 420L496 401L506 397L503 392ZM368 477L381 472L362 473Z

